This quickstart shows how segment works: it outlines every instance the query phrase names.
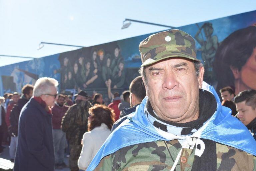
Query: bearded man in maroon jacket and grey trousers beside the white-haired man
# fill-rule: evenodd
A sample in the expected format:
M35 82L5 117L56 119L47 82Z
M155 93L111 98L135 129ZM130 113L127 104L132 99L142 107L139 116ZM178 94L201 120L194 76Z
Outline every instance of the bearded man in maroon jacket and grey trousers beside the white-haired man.
M65 106L64 103L65 96L60 94L54 107L52 107L52 128L56 169L67 167L63 161L66 146L66 134L60 129L62 117L68 110L68 106Z

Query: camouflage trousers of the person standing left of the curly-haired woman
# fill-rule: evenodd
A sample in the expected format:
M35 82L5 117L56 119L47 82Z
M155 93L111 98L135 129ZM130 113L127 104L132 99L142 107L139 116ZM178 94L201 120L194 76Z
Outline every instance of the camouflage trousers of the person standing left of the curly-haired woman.
M69 167L71 171L78 171L77 161L80 156L82 145L70 145Z

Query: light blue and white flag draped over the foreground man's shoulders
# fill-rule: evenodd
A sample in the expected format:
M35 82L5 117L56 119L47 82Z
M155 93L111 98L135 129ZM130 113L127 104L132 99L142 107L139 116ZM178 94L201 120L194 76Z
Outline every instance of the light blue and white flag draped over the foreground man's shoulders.
M217 101L217 109L212 117L190 137L209 139L256 156L256 141L248 129L237 118L231 116L229 108L221 106L220 99L212 86L203 82L202 89L214 95ZM187 137L173 134L168 137L161 136L160 132L150 124L145 115L147 99L146 96L141 104L136 107L136 111L130 114L129 119L125 120L110 134L88 166L87 171L94 170L103 157L123 147L157 140L171 141Z

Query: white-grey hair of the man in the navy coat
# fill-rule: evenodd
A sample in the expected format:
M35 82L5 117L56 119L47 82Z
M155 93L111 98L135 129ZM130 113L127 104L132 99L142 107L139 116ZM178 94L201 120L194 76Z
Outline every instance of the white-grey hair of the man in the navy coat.
M38 80L36 80L34 90L33 90L33 96L39 97L43 94L49 94L51 93L50 87L51 86L57 87L58 84L59 84L58 81L55 80L54 78L50 78L50 77L39 78Z

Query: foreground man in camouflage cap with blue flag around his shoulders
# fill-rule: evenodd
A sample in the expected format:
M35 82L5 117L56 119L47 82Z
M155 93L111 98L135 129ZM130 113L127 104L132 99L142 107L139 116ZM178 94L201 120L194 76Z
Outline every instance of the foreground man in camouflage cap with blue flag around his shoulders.
M255 170L256 141L203 82L194 39L181 30L139 45L146 97L105 141L91 170Z

